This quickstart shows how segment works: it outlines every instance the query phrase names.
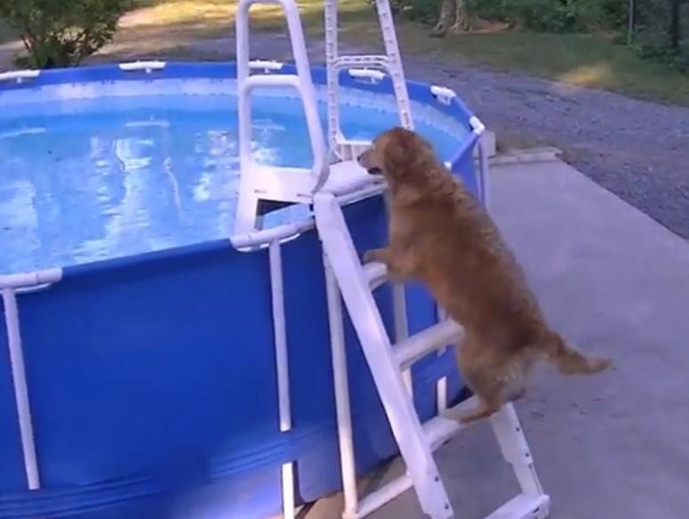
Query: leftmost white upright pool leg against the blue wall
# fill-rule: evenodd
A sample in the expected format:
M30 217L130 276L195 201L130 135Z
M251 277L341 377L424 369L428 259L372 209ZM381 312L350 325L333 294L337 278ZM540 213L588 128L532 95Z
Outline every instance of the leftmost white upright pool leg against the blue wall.
M27 475L28 490L34 491L41 488L41 480L38 475L34 427L31 421L31 407L28 401L27 374L24 367L24 355L21 349L19 308L17 307L16 294L11 288L3 289L3 305L4 323L7 328L7 343L10 349L14 399L20 422L24 470Z

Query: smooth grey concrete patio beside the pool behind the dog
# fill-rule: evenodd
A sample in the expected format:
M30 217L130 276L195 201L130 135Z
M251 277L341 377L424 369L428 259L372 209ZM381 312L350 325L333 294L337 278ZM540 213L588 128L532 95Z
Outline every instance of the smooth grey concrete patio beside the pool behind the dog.
M554 519L679 519L689 509L689 244L557 160L493 167L492 212L554 326L614 371L549 368L517 406ZM517 492L486 424L437 451L457 519ZM387 469L394 475L394 463ZM334 519L341 497L304 510ZM372 515L416 519L413 492Z

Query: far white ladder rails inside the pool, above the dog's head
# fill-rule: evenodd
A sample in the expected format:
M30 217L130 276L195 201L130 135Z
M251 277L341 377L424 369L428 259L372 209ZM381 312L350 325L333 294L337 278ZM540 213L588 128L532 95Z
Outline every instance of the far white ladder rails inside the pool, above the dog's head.
M347 69L352 77L371 82L381 81L387 72L397 100L400 124L412 130L412 110L409 94L406 89L405 73L402 68L402 56L397 44L395 21L392 18L388 0L376 0L376 11L381 25L385 54L381 55L344 55L340 56L338 44L338 0L325 2L325 58L327 64L328 88L328 140L331 150L342 160L355 158L362 144L347 140L340 127L340 70Z

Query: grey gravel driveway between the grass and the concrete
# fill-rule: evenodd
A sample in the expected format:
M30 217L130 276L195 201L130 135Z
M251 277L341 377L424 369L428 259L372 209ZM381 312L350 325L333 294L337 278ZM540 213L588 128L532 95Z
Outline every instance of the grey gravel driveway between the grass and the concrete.
M405 72L452 87L498 139L562 149L581 172L689 238L689 108L416 59Z

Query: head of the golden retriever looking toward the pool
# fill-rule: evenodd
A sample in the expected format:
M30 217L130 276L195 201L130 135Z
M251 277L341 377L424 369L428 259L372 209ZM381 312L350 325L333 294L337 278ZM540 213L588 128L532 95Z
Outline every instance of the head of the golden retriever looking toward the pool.
M373 140L358 156L359 164L372 175L383 175L391 186L420 180L436 161L433 148L421 135L405 128L392 128Z

